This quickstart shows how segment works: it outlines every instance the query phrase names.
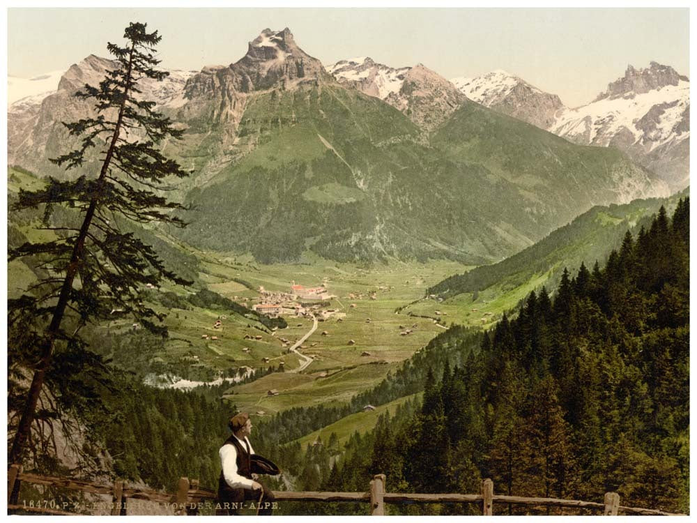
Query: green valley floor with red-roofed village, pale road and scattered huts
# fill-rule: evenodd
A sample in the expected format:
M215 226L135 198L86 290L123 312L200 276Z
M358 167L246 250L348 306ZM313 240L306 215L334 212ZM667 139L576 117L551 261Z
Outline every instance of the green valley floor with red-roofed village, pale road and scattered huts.
M244 257L197 255L206 260L201 275L209 294L187 310L163 308L171 335L151 357L144 382L220 386L225 400L256 416L341 404L397 372L448 324L493 321L510 306L488 293L461 303L429 296L429 285L465 268L452 261L397 271L321 260L261 267Z

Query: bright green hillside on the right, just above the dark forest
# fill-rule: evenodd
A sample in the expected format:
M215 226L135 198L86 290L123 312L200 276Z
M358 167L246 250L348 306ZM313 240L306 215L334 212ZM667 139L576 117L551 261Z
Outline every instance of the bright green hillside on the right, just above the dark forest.
M535 245L498 264L478 266L429 287L427 298L411 303L401 314L437 319L443 324L490 328L533 290L552 291L565 267L595 261L603 264L619 248L627 230L635 235L661 205L672 211L687 190L667 199L638 199L630 204L596 206Z

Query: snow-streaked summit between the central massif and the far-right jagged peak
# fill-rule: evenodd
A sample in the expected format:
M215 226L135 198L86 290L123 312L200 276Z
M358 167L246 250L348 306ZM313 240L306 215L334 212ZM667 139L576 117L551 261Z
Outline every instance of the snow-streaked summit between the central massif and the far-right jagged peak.
M450 81L470 100L542 129L548 129L564 107L556 94L545 93L505 70Z

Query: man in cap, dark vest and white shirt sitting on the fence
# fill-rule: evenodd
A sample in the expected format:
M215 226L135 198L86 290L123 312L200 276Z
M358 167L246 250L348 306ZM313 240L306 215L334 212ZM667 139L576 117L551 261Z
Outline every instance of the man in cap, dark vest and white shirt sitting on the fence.
M253 502L254 507L259 507L259 515L271 515L273 493L256 481L256 474L252 475L250 458L254 450L247 439L252 433L250 415L241 412L230 418L228 426L232 435L220 447L222 471L218 480L218 513L238 515L239 508L248 507Z

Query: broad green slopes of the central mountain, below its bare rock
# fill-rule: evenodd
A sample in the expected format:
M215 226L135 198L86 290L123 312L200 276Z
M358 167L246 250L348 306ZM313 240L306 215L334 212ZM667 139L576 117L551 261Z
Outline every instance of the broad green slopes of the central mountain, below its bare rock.
M431 146L395 109L341 86L263 93L241 121L239 135L259 146L192 192L184 237L263 261L311 248L339 260L480 264L576 210L667 195L617 151L569 144L474 103Z

